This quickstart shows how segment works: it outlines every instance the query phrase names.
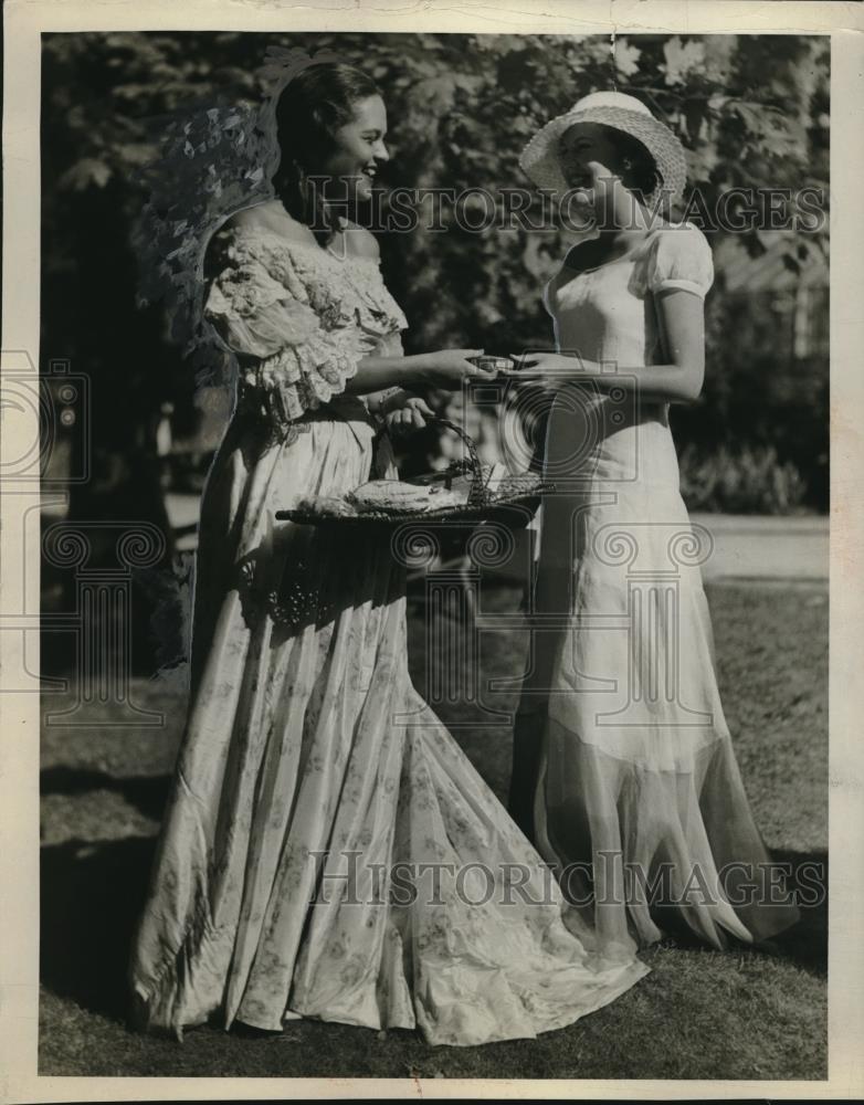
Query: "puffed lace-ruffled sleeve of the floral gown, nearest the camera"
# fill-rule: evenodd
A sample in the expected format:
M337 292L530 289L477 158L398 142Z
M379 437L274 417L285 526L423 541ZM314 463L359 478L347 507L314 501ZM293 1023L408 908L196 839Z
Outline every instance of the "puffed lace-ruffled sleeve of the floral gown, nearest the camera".
M247 250L221 254L204 315L234 352L243 382L260 391L266 411L291 421L345 390L362 354L350 319L323 317L302 281L281 278Z

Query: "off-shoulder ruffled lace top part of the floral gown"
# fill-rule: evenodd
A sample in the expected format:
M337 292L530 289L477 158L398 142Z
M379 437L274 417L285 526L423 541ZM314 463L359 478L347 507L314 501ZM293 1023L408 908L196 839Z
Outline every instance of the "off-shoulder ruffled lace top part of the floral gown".
M338 257L265 229L213 242L204 314L240 366L239 407L287 428L345 390L363 357L398 355L408 323L377 259Z

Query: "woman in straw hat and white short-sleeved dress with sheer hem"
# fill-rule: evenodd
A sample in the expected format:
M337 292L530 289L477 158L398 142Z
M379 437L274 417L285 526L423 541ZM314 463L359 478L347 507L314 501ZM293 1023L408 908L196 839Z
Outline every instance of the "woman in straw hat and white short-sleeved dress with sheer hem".
M545 291L557 351L523 358L555 393L557 490L510 811L605 948L655 941L658 922L716 947L766 938L797 912L771 878L724 720L699 571L710 537L689 525L668 423L670 404L702 388L713 282L702 232L663 218L684 152L639 99L597 93L520 164L596 232Z

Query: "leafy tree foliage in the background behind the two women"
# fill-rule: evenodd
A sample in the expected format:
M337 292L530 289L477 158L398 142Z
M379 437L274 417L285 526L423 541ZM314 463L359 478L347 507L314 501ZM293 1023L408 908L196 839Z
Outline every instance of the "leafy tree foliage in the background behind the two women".
M272 149L259 105L278 75L273 48L330 49L379 82L390 116L384 186L528 187L517 159L534 130L610 87L639 96L679 134L688 196L697 189L708 212L734 187L828 185L828 38L652 34L618 38L613 49L604 36L158 32L43 43L43 352L94 379L105 509L123 509L130 480L151 486L143 473L161 404L191 417L193 369L207 360L199 352L190 368L187 358L199 337L200 235L266 194ZM409 348L548 346L539 291L560 236L472 233L446 210L445 225L381 241L411 323ZM826 249L824 232L742 236L752 254L782 249L792 269ZM705 413L683 423L689 441L731 432L728 397L740 400L750 366L769 352L730 348L727 325L720 272ZM816 371L826 388L826 366ZM747 434L747 419L735 429ZM104 506L106 487L116 507ZM93 511L94 488L84 495Z

